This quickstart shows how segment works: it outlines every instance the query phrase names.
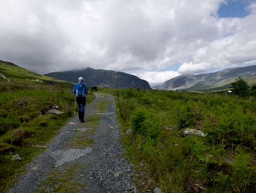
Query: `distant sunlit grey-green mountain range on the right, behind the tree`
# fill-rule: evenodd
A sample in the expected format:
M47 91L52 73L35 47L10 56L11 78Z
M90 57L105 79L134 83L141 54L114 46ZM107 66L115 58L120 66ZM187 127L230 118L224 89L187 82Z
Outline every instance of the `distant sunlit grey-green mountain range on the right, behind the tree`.
M230 83L239 76L243 77L249 84L256 84L256 65L230 68L207 74L184 74L167 80L156 88L158 90L217 91L228 89Z

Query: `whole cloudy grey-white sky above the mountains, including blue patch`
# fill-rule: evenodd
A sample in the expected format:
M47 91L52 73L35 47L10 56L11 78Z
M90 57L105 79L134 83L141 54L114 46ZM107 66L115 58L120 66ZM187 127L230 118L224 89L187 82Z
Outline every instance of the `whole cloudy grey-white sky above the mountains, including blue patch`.
M0 0L0 59L37 73L91 67L151 85L256 64L252 0Z

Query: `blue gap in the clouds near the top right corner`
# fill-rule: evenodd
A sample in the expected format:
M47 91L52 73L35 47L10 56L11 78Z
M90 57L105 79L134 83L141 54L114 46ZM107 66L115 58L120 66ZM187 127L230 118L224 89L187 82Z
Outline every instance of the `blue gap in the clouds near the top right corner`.
M245 17L249 15L247 6L253 2L251 0L227 0L223 3L219 10L219 17Z

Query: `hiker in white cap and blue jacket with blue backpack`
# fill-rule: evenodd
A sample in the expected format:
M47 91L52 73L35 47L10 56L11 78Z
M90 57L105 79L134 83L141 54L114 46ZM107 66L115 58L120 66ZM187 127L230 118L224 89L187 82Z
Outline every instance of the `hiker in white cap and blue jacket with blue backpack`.
M88 94L87 85L83 83L83 77L78 78L78 83L74 85L74 94L76 94L76 101L78 104L78 116L80 123L83 123L84 108L86 106L86 95Z

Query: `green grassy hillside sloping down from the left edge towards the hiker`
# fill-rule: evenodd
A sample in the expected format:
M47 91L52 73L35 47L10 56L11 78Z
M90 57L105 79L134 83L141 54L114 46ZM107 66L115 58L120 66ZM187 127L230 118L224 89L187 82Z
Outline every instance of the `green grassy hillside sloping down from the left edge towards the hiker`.
M73 87L73 83L57 80L56 78L43 76L28 69L19 67L14 63L0 60L0 82L10 82L15 84L57 84L60 87Z

